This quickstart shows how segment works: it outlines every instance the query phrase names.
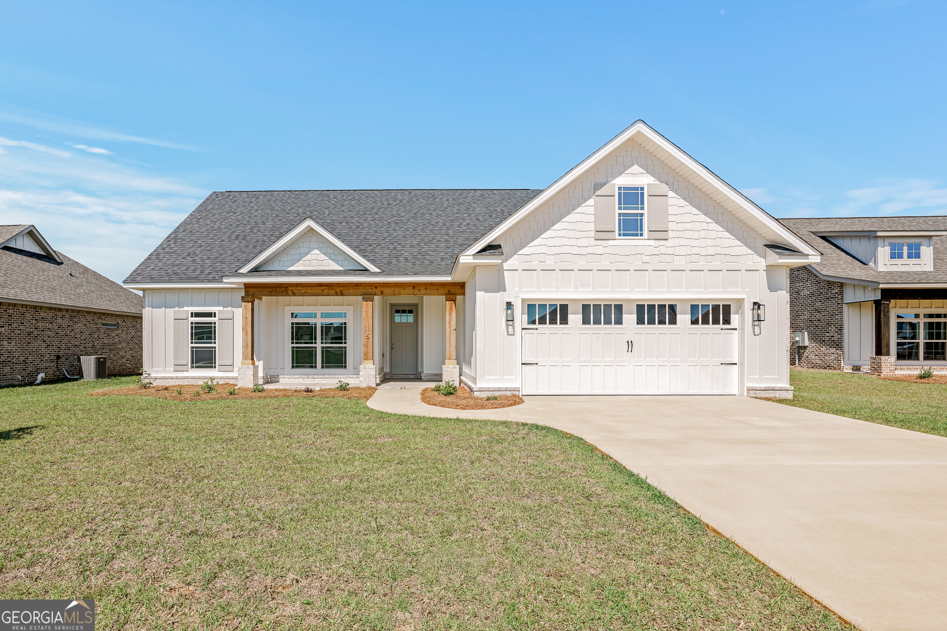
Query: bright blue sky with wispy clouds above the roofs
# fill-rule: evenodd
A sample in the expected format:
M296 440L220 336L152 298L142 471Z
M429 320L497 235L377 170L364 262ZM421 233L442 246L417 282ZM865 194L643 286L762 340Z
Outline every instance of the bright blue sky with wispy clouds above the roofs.
M777 217L947 214L947 4L6 2L0 223L120 281L212 190L542 188L641 118Z

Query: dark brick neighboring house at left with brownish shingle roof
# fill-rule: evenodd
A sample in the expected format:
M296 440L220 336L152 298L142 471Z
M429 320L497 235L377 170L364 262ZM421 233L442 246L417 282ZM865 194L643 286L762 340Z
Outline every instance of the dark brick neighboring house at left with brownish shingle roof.
M109 375L141 372L142 298L56 252L32 225L0 225L0 386L78 377L82 355Z

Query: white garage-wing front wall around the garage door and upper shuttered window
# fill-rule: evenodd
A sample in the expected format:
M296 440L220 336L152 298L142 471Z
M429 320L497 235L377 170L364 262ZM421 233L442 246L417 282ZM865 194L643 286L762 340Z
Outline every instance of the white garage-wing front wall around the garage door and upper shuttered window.
M595 184L602 182L668 184L668 238L596 239ZM518 330L524 295L632 302L666 293L682 309L703 296L733 296L742 322L741 388L789 383L788 269L767 267L768 241L634 141L494 242L503 263L477 267L467 279L474 330L462 375L478 389L519 386L520 336L507 334L503 308L514 302ZM749 323L753 301L766 305L759 335Z

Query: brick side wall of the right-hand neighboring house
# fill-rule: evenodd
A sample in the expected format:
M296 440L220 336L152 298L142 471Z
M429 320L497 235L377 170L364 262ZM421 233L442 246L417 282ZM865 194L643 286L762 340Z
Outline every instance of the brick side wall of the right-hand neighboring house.
M799 365L841 370L845 359L845 323L842 283L819 278L808 267L789 272L790 339L796 331L809 331L809 347L799 348ZM790 348L795 366L795 348Z

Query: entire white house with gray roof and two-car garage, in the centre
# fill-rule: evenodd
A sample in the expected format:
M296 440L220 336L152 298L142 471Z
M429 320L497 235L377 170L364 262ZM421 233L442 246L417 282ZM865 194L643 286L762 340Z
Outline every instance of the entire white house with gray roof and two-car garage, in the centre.
M786 396L818 260L637 121L542 190L215 192L125 287L159 383Z

